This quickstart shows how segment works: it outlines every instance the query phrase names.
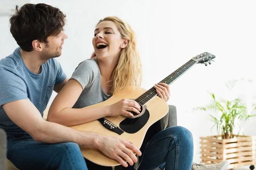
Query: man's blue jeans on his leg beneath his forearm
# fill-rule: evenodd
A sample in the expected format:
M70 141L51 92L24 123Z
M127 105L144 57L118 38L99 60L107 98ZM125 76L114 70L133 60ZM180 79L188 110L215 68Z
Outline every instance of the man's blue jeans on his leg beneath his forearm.
M7 158L20 170L88 170L78 144L46 144L31 136L7 142Z

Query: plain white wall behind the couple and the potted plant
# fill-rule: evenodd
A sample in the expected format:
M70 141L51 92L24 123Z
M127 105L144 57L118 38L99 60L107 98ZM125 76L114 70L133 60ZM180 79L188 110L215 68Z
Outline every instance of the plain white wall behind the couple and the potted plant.
M143 61L143 84L151 88L178 67L204 51L216 55L215 63L195 65L171 85L169 104L177 107L178 125L188 128L199 160L199 136L215 135L203 112L192 108L209 103L207 91L227 98L224 82L255 79L256 3L253 0L31 0L57 6L67 14L65 40L58 60L70 77L76 66L93 52L91 40L96 23L106 16L118 16L137 33ZM9 17L0 17L0 58L17 46L9 33ZM254 87L254 86L253 86ZM255 88L246 93L255 93ZM238 89L243 91L243 89ZM55 95L52 96L52 99ZM52 100L51 100L52 101ZM256 135L251 119L243 128Z

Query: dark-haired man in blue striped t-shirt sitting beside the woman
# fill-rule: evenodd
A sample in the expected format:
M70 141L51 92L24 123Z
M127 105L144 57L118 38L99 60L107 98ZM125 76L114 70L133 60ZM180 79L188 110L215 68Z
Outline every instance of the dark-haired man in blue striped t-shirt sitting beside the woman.
M133 144L42 119L52 91L58 93L68 81L55 59L67 38L65 17L46 4L25 4L10 19L20 47L0 60L0 128L7 133L7 158L20 170L87 170L79 146L94 147L127 167L118 155L136 162L131 150L141 152Z

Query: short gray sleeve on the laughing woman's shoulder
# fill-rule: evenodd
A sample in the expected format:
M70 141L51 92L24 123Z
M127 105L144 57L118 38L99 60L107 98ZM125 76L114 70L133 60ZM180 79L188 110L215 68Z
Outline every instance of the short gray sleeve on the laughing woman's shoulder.
M94 59L87 59L81 62L75 69L70 79L76 79L81 86L87 88L99 74L99 66Z

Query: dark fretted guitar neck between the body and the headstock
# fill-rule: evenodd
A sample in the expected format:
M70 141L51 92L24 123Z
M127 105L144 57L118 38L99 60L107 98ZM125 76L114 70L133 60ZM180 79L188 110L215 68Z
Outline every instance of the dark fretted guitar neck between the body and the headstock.
M172 74L170 74L160 82L171 85L172 82L178 79L182 74L184 74L190 68L192 68L192 66L194 66L196 63L197 61L195 61L194 59L190 59L188 62L186 62L184 65L182 65L180 68L178 68L176 71L174 71ZM139 105L145 105L150 99L152 99L156 95L157 95L157 91L154 87L152 87L148 91L146 91L144 94L142 94L140 97L135 99L135 101L139 103Z

